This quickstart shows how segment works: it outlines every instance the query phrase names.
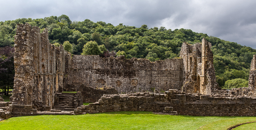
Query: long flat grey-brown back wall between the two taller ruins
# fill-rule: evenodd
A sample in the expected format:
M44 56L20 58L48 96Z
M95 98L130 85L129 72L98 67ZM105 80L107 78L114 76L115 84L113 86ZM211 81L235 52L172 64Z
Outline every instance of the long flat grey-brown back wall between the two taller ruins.
M93 88L113 87L119 93L142 90L181 90L184 81L182 59L150 62L147 59L72 57L72 84Z

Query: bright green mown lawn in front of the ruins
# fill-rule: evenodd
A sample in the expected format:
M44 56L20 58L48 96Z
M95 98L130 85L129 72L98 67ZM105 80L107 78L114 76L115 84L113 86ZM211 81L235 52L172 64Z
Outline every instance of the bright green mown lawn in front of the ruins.
M0 126L7 130L226 130L236 124L252 121L256 121L256 117L202 117L122 111L12 117L1 121ZM255 128L255 123L246 125L254 125L251 128Z

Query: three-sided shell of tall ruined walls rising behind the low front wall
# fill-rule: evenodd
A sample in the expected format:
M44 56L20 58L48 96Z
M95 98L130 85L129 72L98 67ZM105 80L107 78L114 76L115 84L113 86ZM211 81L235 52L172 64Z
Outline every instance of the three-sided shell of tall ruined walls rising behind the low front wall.
M84 96L90 95L85 91L91 89L83 87L113 88L115 91L108 91L109 94L169 89L211 94L218 87L211 43L205 39L202 44L183 43L181 58L150 62L125 59L124 56L74 55L71 58L63 46L55 47L49 43L47 29L42 34L39 32L38 27L31 28L28 23L17 25L12 105L53 109L57 92L70 90L71 86ZM106 91L99 93L106 94Z

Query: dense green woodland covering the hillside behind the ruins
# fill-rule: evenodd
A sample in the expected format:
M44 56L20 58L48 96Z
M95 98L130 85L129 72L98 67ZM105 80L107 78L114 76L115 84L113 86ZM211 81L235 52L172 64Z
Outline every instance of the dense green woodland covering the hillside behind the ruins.
M256 50L251 47L193 32L191 29L148 28L147 25L136 28L122 23L114 26L103 21L94 23L89 19L71 21L67 15L1 21L0 47L14 45L16 24L26 22L40 27L41 32L48 28L50 43L56 46L68 41L72 45L70 52L75 55L86 54L83 48L87 43L93 43L97 44L99 51L90 54L100 54L102 57L118 54L125 55L126 58L164 60L178 57L183 42L195 44L206 38L212 43L217 82L221 87L225 86L228 80L230 82L236 79L239 84L248 81L251 59L256 54ZM106 50L102 50L103 48Z

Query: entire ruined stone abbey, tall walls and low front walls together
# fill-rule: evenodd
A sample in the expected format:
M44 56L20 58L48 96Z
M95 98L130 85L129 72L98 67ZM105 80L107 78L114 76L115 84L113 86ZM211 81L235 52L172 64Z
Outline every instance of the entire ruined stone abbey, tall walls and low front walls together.
M124 56L71 57L63 46L49 43L47 29L40 34L39 27L18 24L14 64L14 93L10 102L0 102L2 118L110 111L256 115L256 56L248 88L221 89L211 43L204 38L193 45L184 42L180 58L156 62ZM84 106L83 102L95 103Z

